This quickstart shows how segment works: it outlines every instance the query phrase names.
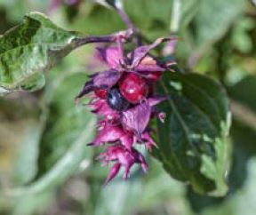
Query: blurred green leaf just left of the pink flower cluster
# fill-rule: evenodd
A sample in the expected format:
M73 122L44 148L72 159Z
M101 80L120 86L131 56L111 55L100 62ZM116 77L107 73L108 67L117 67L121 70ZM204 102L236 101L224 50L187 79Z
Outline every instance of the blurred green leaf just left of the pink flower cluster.
M76 98L84 82L88 80L88 76L81 71L83 70L70 68L68 72L62 75L58 73L59 75L57 76L52 72L51 79L54 81L51 85L53 89L51 89L51 86L47 88L53 91L52 99L50 101L46 129L41 140L42 148L39 161L41 173L49 170L62 155L65 155L68 147L71 147L81 131L84 131L87 123L91 119L95 120L95 115L92 115L88 108L76 107L74 102L74 98ZM51 80L49 80L49 83L51 83ZM84 102L89 102L88 98ZM93 132L91 133L92 136ZM86 142L84 142L84 147L85 144ZM85 148L87 149L86 155L90 155L91 148Z

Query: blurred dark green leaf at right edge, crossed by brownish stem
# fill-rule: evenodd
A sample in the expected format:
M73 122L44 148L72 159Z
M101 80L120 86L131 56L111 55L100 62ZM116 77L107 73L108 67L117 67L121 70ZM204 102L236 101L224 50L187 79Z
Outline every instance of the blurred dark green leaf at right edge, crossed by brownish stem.
M256 76L247 76L228 88L234 115L231 135L240 151L256 155Z

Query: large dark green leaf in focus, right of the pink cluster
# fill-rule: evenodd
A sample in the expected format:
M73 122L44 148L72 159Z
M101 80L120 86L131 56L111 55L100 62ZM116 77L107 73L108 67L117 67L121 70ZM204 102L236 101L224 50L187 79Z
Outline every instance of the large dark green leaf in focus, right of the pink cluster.
M156 157L173 178L200 194L225 195L228 170L228 98L220 84L197 74L166 72L159 92L165 123L157 123Z

